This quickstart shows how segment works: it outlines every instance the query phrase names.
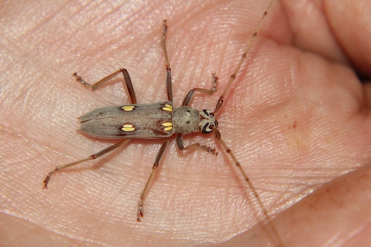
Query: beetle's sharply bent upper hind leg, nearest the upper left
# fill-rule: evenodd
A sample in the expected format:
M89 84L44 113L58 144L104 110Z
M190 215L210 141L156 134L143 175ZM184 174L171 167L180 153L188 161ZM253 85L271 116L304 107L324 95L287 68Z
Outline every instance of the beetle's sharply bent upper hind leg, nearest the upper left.
M98 87L100 87L103 84L105 84L107 81L109 81L112 78L114 78L115 76L117 76L119 73L122 73L122 75L124 76L125 85L126 85L126 88L128 89L129 96L130 96L130 99L131 99L131 103L132 104L137 104L137 97L135 97L135 92L134 92L133 84L131 83L131 79L130 79L129 73L128 73L128 71L126 69L120 69L120 70L118 70L118 71L110 74L109 76L104 77L102 80L94 83L93 85L87 83L76 72L73 74L73 76L75 76L76 77L76 80L79 81L81 84L83 84L85 87L90 87L91 89L95 90Z

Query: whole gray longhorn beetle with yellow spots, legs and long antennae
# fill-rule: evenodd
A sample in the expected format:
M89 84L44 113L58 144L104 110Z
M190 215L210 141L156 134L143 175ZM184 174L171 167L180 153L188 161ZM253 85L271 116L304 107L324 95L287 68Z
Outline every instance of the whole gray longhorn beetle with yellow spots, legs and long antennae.
M191 103L193 94L195 91L204 93L204 94L213 94L216 91L217 86L217 77L213 74L213 85L211 89L201 89L201 88L194 88L191 89L188 94L185 96L183 103L180 107L173 106L173 90L172 90L172 81L171 81L171 69L170 63L168 60L167 49L166 49L166 33L167 33L167 23L166 20L163 21L162 24L162 36L161 36L161 46L164 51L165 61L166 61L166 88L167 88L167 96L168 101L151 103L151 104L137 104L137 99L135 97L134 88L131 83L131 79L129 77L129 73L126 69L119 69L118 71L110 74L109 76L104 77L102 80L94 83L88 84L85 80L82 79L77 73L74 73L73 76L76 77L76 80L79 81L86 87L90 87L92 90L97 89L98 87L105 84L107 81L111 80L118 74L122 73L124 76L124 81L126 87L128 89L128 93L131 99L131 104L124 104L121 106L109 106L100 109L93 110L89 113L86 113L82 117L80 117L80 128L79 130L85 134L94 137L101 137L101 138L124 138L124 140L105 148L104 150L95 153L88 158L83 160L75 161L69 164L65 164L62 166L55 167L54 170L50 171L49 174L46 176L45 180L43 181L44 187L47 188L50 178L53 176L56 171L62 170L64 168L75 166L76 164L93 160L98 158L112 150L115 150L118 147L127 144L131 138L165 138L164 143L162 144L160 150L157 153L155 158L154 165L152 167L152 172L150 177L147 180L147 183L144 186L144 189L140 195L139 203L138 203L138 214L137 220L141 221L141 217L143 216L143 201L148 189L148 186L151 183L152 177L157 170L158 164L166 150L166 147L169 143L169 138L173 134L176 134L176 143L180 150L190 150L194 148L200 148L201 150L207 151L210 154L217 156L218 152L215 148L211 148L210 146L201 145L200 143L194 143L189 146L185 146L183 144L183 135L198 132L200 131L203 134L209 134L214 132L214 135L218 141L220 141L221 145L225 148L226 152L230 155L236 166L239 168L243 177L249 184L250 188L252 189L254 196L259 203L260 209L262 210L265 220L267 223L270 223L270 217L267 214L267 211L260 200L259 195L257 194L255 188L251 184L249 178L247 177L246 173L240 166L239 161L234 156L230 148L226 145L226 143L221 139L220 131L218 130L218 121L215 118L215 115L220 111L221 107L223 106L224 97L226 96L229 87L231 86L234 78L237 75L242 63L244 62L248 51L262 26L262 23L272 6L273 0L270 1L267 9L265 10L262 18L258 26L256 27L255 32L253 33L252 37L247 44L245 52L242 54L242 57L234 70L233 74L230 76L228 84L224 89L223 93L219 97L219 100L216 104L215 110L195 110L191 107L188 107ZM274 227L272 227L273 234L279 240L278 234ZM281 241L279 240L279 243ZM282 245L282 244L280 244Z

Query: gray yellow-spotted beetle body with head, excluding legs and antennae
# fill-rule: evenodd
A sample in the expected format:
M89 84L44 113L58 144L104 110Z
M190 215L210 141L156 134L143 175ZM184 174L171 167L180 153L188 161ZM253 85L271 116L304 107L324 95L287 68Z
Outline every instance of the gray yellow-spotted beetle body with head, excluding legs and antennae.
M211 111L198 111L163 101L95 109L81 116L79 131L101 138L166 138L173 133L210 133L217 121Z

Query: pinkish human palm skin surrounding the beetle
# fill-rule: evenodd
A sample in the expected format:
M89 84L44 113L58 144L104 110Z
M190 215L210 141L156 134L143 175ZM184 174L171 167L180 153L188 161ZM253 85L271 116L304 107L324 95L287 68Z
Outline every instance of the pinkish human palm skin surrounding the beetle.
M212 134L175 138L136 221L138 197L163 140L131 140L42 181L55 166L118 140L77 133L76 117L167 100L161 21L168 20L174 105L213 110L267 1L1 3L0 239L3 246L367 246L371 243L370 1L275 1L217 114L274 218ZM309 196L308 196L309 195ZM269 233L273 227L278 237ZM278 240L280 238L281 240Z

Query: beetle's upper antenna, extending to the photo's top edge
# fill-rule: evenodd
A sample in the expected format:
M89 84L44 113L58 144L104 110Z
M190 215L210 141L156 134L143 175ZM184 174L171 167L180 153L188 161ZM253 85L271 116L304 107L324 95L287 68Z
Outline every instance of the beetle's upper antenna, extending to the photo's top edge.
M214 110L214 112L213 112L213 115L214 115L214 116L218 113L218 111L219 111L219 110L221 109L221 107L223 106L223 104L224 104L224 103L223 103L224 96L226 96L227 91L229 90L229 87L231 86L231 84L232 84L234 78L236 77L238 71L240 70L241 65L243 64L243 61L246 59L246 55L247 55L247 53L249 52L250 47L251 47L253 41L255 40L255 37L256 37L257 33L258 33L259 30L260 30L260 27L262 27L263 21L264 21L265 17L266 17L267 14L268 14L268 11L269 11L269 9L270 9L270 6L272 6L272 3L273 3L273 0L270 1L270 3L269 3L269 5L268 5L267 9L264 11L263 17L262 17L262 19L260 19L259 25L257 25L257 27L256 27L256 29L255 29L255 32L253 33L252 37L250 38L250 40L249 40L249 44L247 44L246 50L245 50L245 52L242 54L242 57L241 57L241 59L240 59L240 62L238 63L238 65L237 65L236 69L234 70L233 74L231 74L231 76L229 77L228 84L227 84L226 88L224 89L223 94L221 94L221 96L219 97L218 103L216 104L215 110Z

